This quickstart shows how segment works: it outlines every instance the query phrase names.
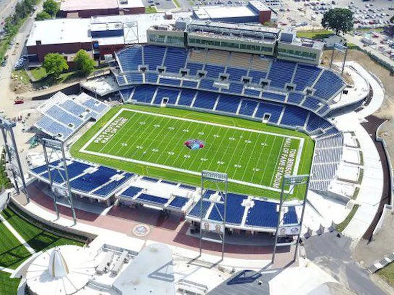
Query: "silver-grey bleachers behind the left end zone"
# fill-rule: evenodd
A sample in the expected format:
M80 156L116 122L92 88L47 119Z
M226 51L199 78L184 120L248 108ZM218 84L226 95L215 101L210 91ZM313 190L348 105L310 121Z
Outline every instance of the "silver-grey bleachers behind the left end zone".
M91 118L101 118L109 110L109 106L84 92L75 98L57 92L37 109L43 117L34 127L65 141Z

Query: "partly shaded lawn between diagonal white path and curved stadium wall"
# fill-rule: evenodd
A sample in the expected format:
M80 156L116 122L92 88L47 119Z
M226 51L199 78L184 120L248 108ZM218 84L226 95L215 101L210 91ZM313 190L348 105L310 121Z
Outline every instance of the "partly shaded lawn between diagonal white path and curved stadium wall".
M11 224L11 226L21 235L25 241L34 249L35 252L50 249L61 245L78 245L83 246L83 243L67 239L61 236L56 236L52 233L41 230L33 224L25 221L10 208L1 212L1 215Z

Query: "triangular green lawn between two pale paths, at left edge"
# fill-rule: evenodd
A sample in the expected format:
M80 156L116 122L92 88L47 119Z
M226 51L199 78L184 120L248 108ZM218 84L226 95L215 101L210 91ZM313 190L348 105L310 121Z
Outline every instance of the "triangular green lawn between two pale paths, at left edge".
M15 269L30 256L25 246L0 222L0 266Z

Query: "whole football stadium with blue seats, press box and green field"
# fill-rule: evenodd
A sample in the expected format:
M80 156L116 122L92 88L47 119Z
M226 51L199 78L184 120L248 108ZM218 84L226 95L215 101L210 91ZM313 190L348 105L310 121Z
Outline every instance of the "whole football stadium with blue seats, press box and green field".
M322 44L294 32L224 24L231 34L222 34L214 22L182 24L151 28L148 44L115 54L108 77L38 107L29 132L64 142L66 158L50 154L47 165L42 155L32 157L32 202L24 207L53 221L56 200L60 218L53 222L69 226L69 184L75 229L101 238L126 234L136 245L161 242L179 261L196 258L206 229L199 263L209 266L219 259L223 233L223 280L232 268L286 266L299 257L298 233L330 231L357 208L343 233L360 239L383 193L380 155L360 124L382 101L375 78L357 64L347 64L343 76L321 66ZM104 102L93 97L100 94ZM185 147L190 141L198 148ZM204 169L229 176L226 205L218 187L201 189ZM290 197L280 206L289 174L309 175L309 187L285 185ZM285 234L269 266L278 225ZM204 293L221 283L202 277L192 281ZM185 282L176 280L177 290L191 292Z

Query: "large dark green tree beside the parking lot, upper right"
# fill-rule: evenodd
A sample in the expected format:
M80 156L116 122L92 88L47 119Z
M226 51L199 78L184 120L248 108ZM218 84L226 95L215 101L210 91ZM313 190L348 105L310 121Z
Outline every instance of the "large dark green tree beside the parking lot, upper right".
M330 9L324 13L322 26L333 29L337 35L347 33L353 29L353 12L347 8Z

